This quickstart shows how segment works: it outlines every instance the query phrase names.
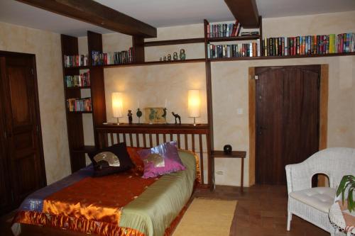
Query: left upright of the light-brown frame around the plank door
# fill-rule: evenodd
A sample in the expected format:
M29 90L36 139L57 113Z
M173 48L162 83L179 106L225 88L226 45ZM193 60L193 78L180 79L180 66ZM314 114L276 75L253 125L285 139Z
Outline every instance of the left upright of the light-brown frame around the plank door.
M255 184L255 151L256 151L256 84L255 67L249 67L249 186Z

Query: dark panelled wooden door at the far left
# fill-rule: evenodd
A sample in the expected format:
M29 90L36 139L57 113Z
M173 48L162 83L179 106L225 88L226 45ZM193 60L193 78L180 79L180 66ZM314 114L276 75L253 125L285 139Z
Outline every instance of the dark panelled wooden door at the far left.
M1 101L6 137L6 167L11 200L45 186L34 55L10 54L1 59Z

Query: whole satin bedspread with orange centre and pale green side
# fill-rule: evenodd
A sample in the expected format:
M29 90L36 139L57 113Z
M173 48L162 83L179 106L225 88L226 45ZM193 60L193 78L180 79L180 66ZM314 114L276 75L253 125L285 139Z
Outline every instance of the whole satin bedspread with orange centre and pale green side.
M191 196L197 158L180 151L187 169L155 179L136 172L92 178L92 167L33 193L14 225L60 227L97 235L151 236L164 231Z

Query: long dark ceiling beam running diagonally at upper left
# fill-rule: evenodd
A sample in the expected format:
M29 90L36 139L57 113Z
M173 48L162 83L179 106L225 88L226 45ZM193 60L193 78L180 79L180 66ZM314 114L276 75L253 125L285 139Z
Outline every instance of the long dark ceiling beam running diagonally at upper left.
M16 0L127 35L156 38L156 28L92 0Z

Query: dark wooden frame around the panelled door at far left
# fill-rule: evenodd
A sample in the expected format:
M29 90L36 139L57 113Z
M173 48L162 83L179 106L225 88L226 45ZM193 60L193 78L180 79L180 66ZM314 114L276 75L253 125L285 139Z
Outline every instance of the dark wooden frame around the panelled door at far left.
M37 68L36 68L36 63L35 63L35 54L31 53L23 53L23 52L8 52L8 51L1 51L0 50L0 57L28 57L31 60L32 64L32 69L33 69L33 96L35 99L35 118L36 122L38 124L38 148L39 154L40 154L40 165L41 165L41 186L47 186L47 176L45 174L45 159L44 159L44 152L43 152L43 138L42 138L42 124L40 123L40 103L39 103L39 97L38 97L38 80L37 80ZM1 68L0 68L1 69ZM4 73L3 73L4 74ZM0 73L0 83L1 82L1 73ZM1 88L1 86L0 86ZM2 88L4 89L4 88ZM4 94L4 92L1 92L1 94ZM0 98L0 101L4 101L4 97Z

